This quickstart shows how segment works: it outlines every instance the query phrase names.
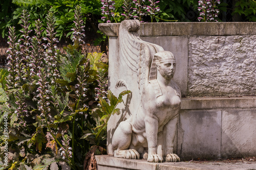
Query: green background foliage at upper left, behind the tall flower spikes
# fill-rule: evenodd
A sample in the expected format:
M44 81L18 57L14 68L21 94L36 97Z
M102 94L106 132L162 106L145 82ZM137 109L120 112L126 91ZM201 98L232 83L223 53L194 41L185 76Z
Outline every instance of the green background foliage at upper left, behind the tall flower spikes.
M70 30L74 27L73 20L76 5L81 7L81 11L84 15L83 19L90 25L90 27L87 28L91 28L94 31L97 31L97 22L101 15L100 0L5 0L2 4L2 12L0 13L0 16L2 16L0 18L1 28L7 28L10 25L17 27L18 23L21 23L18 17L22 14L24 9L29 12L32 26L35 26L36 19L41 19L44 23L44 28L46 28L46 15L50 11L53 12L56 18L56 32L57 37L60 38L69 36ZM6 13L6 11L8 11L8 13ZM4 37L6 35L7 32L3 31L2 36ZM44 35L46 35L46 32L44 32Z

